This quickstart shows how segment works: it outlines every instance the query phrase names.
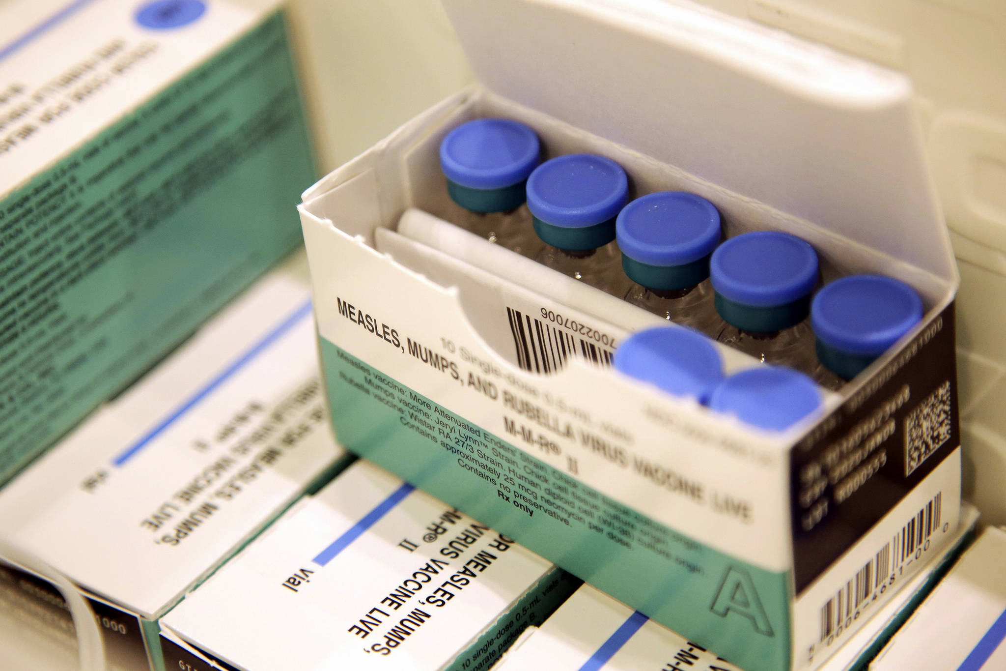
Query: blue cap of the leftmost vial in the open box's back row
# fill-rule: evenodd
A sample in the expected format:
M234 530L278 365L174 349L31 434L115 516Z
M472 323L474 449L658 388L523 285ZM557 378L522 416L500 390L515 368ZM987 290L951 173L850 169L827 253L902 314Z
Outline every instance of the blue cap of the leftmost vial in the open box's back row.
M441 169L449 180L469 189L501 189L527 179L538 165L538 136L520 122L476 119L447 134L441 143Z

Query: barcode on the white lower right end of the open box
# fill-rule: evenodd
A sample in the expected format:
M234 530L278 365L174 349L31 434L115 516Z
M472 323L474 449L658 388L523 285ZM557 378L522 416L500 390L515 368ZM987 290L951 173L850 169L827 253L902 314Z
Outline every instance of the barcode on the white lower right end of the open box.
M883 593L897 569L921 556L926 542L940 529L943 494L937 494L880 551L870 557L821 609L821 643L831 645L859 617L860 609ZM916 552L918 553L916 556Z

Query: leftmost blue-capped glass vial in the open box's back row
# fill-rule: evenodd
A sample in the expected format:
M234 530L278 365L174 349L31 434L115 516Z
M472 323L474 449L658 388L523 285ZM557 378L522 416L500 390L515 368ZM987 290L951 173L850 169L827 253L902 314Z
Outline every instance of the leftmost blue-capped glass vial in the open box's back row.
M441 169L460 211L448 219L526 257L541 248L525 205L527 178L541 145L530 128L509 119L476 119L441 142Z

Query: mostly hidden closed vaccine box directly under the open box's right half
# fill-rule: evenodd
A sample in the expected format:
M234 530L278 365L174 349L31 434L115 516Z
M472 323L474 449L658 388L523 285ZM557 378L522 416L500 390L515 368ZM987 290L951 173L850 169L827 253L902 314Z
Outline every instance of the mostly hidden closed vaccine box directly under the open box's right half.
M973 536L978 511L964 504L961 525L951 544L929 557L903 590L867 617L865 626L846 640L819 668L822 671L864 669L891 634L953 565ZM584 584L548 620L528 629L493 671L737 671L728 661L688 641ZM892 667L893 668L893 667ZM898 667L911 668L911 667ZM916 667L921 668L921 667Z

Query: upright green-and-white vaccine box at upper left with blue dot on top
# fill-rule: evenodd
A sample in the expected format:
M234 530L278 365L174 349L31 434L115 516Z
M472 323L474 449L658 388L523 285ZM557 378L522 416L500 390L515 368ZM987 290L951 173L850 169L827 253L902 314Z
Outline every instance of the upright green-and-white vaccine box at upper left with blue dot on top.
M0 8L0 483L299 243L278 7Z

